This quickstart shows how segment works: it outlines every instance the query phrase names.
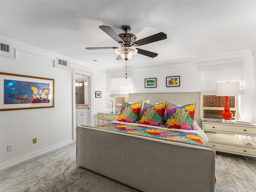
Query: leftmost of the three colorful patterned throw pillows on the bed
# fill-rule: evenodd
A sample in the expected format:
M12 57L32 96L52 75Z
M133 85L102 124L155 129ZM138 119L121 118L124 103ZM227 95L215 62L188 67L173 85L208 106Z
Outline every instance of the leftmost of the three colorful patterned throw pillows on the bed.
M138 121L141 105L142 101L134 104L123 102L118 121L136 123L136 121Z

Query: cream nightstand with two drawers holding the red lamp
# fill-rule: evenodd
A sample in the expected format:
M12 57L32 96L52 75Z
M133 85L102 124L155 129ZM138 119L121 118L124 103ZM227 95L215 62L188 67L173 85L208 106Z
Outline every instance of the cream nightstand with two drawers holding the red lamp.
M256 147L246 146L243 138L256 136L256 124L223 123L221 119L202 119L202 130L216 151L256 157Z

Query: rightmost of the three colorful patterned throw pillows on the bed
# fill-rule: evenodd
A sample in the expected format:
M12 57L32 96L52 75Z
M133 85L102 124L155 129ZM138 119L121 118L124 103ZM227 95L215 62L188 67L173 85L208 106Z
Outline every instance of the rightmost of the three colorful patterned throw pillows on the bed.
M196 103L178 106L166 101L166 126L168 128L194 130L195 110Z

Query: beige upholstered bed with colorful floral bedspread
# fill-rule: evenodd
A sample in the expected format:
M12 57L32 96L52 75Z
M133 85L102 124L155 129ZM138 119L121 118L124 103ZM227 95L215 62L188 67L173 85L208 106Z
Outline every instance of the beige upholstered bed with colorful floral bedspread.
M76 163L144 192L214 192L216 152L213 147L204 145L208 140L198 126L200 92L129 94L129 100L150 100L152 104L168 100L178 106L196 102L198 106L191 125L196 129L141 124L145 122L145 111L142 112L141 122L118 121L98 127L78 126ZM139 117L140 112L136 112ZM163 116L168 120L167 109ZM157 134L148 136L148 133ZM181 134L183 140L176 140L176 135L174 139L160 136L169 133ZM184 140L186 134L192 134L188 136L190 141Z

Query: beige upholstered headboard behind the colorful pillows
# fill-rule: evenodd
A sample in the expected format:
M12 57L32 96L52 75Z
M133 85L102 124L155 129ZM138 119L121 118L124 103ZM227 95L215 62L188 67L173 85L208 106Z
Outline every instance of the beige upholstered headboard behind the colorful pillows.
M187 93L130 93L129 101L146 101L150 100L150 104L162 103L166 100L176 105L186 105L196 102L196 110L194 120L200 126L200 92L187 92Z

